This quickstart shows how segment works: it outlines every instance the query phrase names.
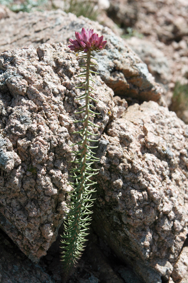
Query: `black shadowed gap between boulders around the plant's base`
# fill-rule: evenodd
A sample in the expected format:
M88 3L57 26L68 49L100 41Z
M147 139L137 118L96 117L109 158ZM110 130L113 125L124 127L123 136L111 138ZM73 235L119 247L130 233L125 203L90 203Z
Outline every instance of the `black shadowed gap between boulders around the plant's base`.
M45 269L55 283L61 283L64 278L63 266L60 262L60 233L62 232L63 225L59 229L56 241L47 251L47 255L39 261L39 266ZM133 268L118 259L106 242L95 234L92 227L89 232L86 249L76 268L72 269L66 283L80 283L85 280L86 282L96 280L95 282L101 283L130 283L130 278L137 278ZM140 279L135 282L142 283Z

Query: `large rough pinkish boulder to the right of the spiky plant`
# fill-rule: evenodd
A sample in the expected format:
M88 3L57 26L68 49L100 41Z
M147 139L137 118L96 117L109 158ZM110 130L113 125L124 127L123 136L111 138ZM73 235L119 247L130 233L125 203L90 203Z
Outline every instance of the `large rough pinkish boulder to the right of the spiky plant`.
M188 232L188 127L152 101L118 117L100 141L93 225L144 282L171 274L179 282L187 272L178 257Z

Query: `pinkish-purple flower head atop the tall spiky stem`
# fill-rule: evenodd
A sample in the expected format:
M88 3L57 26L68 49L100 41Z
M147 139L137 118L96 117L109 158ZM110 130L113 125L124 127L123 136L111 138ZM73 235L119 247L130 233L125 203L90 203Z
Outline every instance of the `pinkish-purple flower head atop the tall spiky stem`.
M84 51L87 53L89 50L102 50L105 48L107 41L102 41L103 36L98 36L97 33L93 33L92 29L87 29L87 31L82 28L81 34L75 31L76 39L69 39L70 43L68 47L75 51Z

